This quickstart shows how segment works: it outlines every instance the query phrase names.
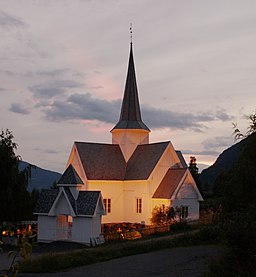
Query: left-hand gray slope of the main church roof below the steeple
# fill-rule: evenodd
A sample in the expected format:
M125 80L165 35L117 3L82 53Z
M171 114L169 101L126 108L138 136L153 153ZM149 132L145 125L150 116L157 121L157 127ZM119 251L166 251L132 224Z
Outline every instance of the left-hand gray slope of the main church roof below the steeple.
M126 163L119 145L75 142L89 180L123 180Z

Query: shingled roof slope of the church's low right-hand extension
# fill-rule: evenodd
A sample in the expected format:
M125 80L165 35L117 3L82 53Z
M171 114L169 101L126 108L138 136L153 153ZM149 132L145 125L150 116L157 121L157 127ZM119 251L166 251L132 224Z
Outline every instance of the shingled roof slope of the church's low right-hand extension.
M186 170L186 168L168 169L163 180L156 189L153 198L171 199L173 193L180 184Z

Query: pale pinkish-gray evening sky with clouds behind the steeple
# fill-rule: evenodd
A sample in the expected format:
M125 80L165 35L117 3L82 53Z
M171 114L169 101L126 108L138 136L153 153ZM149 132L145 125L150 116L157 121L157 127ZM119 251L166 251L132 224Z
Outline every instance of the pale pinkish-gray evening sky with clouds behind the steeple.
M64 172L74 141L111 143L133 53L150 142L212 164L256 110L255 0L0 0L0 129Z

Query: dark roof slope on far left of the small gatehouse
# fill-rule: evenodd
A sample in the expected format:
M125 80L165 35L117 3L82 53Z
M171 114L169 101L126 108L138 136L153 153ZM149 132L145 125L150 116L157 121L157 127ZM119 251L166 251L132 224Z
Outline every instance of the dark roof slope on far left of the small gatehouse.
M59 189L41 190L34 213L49 213L58 194Z

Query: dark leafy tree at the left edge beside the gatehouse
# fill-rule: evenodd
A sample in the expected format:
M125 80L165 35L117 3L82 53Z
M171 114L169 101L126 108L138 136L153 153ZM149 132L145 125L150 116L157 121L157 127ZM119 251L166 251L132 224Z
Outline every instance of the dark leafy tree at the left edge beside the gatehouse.
M19 171L20 156L15 154L17 144L6 129L0 134L0 222L19 221L32 216L32 204L27 185L31 166Z

